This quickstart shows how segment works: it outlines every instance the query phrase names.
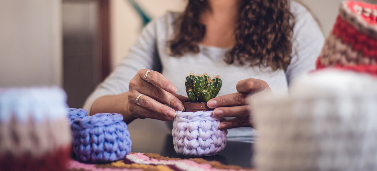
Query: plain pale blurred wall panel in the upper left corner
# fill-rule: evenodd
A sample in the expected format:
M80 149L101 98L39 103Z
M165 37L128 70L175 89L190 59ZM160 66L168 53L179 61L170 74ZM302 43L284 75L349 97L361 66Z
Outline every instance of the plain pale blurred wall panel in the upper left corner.
M0 23L0 87L61 86L61 0L2 0Z

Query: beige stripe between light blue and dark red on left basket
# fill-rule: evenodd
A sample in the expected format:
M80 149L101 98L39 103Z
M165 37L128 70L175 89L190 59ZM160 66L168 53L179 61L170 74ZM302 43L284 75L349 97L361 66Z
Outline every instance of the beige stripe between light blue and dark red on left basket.
M19 122L13 117L10 122L0 122L0 155L39 157L70 143L71 132L65 118L35 123L34 119Z

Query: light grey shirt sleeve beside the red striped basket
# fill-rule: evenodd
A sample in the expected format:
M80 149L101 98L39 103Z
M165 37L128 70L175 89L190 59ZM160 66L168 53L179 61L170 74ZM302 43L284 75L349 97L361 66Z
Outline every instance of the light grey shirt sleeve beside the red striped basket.
M291 64L286 71L288 85L294 77L315 69L316 59L325 41L319 24L305 7L291 1L291 11L296 24L293 28Z

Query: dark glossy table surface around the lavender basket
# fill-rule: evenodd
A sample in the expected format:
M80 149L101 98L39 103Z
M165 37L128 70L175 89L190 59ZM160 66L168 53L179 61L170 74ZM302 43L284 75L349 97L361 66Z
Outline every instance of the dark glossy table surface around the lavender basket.
M188 159L174 150L172 134L150 133L147 131L130 130L132 152L157 153L164 157ZM201 157L205 160L217 160L225 165L238 165L254 168L252 143L228 141L225 149L216 156Z

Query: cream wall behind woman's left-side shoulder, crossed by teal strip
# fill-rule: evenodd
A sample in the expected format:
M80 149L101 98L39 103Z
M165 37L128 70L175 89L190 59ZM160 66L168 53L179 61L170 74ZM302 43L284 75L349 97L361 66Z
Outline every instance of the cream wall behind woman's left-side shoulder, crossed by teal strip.
M152 18L166 11L182 11L186 0L135 0ZM127 0L111 0L111 54L112 69L119 65L129 52L142 29L142 20Z

